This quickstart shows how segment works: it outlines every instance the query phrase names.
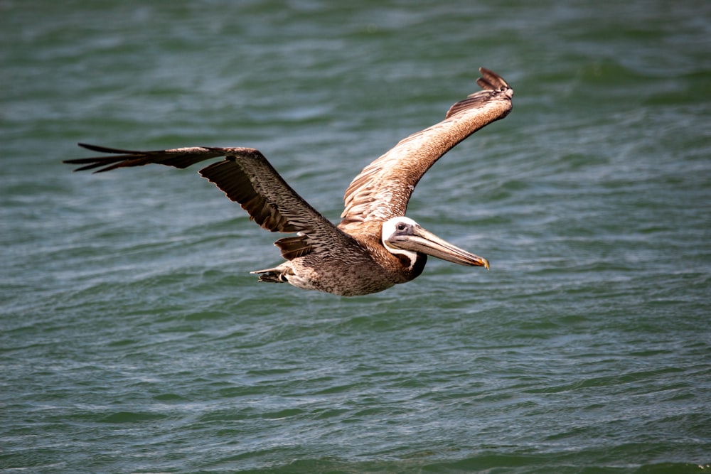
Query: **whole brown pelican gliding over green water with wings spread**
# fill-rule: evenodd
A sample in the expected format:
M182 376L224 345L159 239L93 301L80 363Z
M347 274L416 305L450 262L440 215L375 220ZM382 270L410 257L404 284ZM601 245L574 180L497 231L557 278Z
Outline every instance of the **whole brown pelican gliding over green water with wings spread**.
M405 217L412 190L444 153L511 110L513 90L496 73L480 68L483 89L452 105L442 122L418 131L363 168L346 189L346 209L333 225L279 176L260 151L196 146L160 151L129 151L79 144L112 156L79 158L75 171L109 171L148 163L186 168L224 157L201 169L250 218L272 232L295 234L274 242L287 261L252 271L259 281L288 282L302 289L342 296L383 291L422 273L427 255L460 265L488 261L445 242Z

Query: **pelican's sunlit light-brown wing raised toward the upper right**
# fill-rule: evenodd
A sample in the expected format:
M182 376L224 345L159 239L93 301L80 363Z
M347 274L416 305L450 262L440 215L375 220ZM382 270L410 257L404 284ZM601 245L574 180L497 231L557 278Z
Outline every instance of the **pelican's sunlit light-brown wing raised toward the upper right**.
M495 72L479 68L483 89L452 105L442 122L408 136L363 168L346 189L338 225L355 231L362 222L405 215L412 190L424 173L452 147L511 110L513 89Z

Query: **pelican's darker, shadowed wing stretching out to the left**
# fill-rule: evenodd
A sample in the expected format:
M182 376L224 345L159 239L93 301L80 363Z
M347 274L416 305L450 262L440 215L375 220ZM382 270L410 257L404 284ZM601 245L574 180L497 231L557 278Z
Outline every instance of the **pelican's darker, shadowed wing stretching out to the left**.
M353 243L352 237L306 203L258 150L196 146L132 151L87 144L80 146L115 154L66 160L65 163L83 165L76 171L100 168L97 172L102 172L149 163L187 168L199 161L224 156L223 161L201 169L200 174L215 183L230 200L240 203L242 209L264 229L272 232L298 232L294 237L285 237L275 242L285 259L301 257L321 247Z

